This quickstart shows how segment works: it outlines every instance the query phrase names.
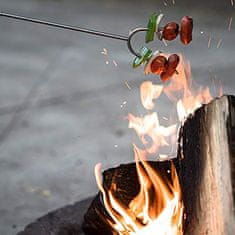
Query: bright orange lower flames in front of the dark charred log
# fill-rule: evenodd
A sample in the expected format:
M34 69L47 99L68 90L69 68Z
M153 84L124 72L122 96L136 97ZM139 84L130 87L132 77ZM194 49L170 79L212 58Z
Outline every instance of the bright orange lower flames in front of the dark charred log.
M113 221L113 229L120 235L182 235L183 202L176 169L171 165L172 182L161 176L142 159L142 152L134 146L136 169L140 183L138 195L126 208L114 196L115 187L105 191L100 177L100 165L95 167L98 187L104 205Z

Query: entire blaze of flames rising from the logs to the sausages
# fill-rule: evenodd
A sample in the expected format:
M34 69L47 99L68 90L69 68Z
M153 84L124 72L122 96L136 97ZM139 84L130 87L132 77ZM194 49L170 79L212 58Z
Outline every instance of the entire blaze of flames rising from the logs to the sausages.
M175 103L178 121L169 126L160 124L154 108L154 100L165 94ZM147 162L150 155L158 155L159 159L167 160L169 155L160 152L163 147L172 147L177 142L178 123L183 122L189 114L202 104L211 101L209 88L193 89L190 65L182 56L180 64L168 84L155 85L145 81L140 86L143 106L148 114L137 117L128 114L129 128L133 128L139 136L144 148L134 144L136 170L140 184L138 195L128 206L115 198L117 190L113 183L105 190L101 179L101 165L95 167L97 185L103 195L103 201L112 220L105 218L119 235L182 235L183 201L176 169L172 163L170 180L162 177ZM170 117L163 117L171 120ZM162 120L161 119L161 120ZM173 147L172 147L173 148Z

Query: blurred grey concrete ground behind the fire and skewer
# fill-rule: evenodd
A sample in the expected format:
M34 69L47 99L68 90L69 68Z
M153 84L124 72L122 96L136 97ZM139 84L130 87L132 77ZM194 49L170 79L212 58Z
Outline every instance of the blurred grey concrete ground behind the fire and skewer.
M145 26L155 11L168 20L191 15L190 46L176 41L153 48L184 53L197 83L214 88L220 80L224 91L234 94L233 1L173 3L0 0L0 11L124 35ZM125 116L144 113L138 86L147 78L131 61L121 41L0 18L1 235L16 234L48 211L94 194L97 162L107 168L132 160L135 135ZM162 114L168 107L165 100L158 105Z

